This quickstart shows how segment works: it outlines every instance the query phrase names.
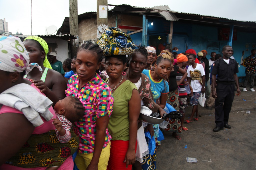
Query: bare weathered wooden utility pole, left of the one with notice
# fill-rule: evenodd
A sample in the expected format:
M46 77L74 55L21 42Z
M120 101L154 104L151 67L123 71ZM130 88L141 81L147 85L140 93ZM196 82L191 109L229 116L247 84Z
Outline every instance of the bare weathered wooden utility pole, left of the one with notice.
M69 0L69 31L77 39L71 40L71 58L77 55L79 47L77 0Z

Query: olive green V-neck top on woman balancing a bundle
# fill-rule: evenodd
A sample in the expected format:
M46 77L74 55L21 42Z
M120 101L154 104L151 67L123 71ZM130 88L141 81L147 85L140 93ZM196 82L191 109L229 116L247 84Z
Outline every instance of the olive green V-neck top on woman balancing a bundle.
M129 140L128 102L131 99L133 89L137 89L137 87L130 80L126 80L113 93L113 111L108 125L112 140Z

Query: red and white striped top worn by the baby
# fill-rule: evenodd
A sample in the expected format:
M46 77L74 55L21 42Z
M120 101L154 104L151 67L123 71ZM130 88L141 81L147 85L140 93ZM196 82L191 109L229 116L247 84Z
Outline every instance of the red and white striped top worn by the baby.
M62 128L66 131L65 135L61 136L59 135L59 131L55 129L56 137L60 141L60 143L67 143L71 139L70 129L72 127L72 123L69 122L69 120L65 116L58 113L56 113L56 118L62 123Z

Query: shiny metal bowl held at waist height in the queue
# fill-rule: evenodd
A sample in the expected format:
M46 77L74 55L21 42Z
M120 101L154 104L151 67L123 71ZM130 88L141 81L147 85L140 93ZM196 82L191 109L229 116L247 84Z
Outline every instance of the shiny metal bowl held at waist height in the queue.
M154 125L160 124L164 121L164 119L150 116L151 113L153 113L152 110L150 110L147 106L141 106L139 120L143 120L148 124Z

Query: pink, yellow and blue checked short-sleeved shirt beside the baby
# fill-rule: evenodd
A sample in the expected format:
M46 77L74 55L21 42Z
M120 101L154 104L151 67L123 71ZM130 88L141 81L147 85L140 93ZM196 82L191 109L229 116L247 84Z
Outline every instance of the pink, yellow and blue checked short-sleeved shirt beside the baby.
M78 98L85 113L82 119L75 123L79 129L80 153L93 153L96 137L96 119L102 116L110 118L114 98L110 87L100 78L98 74L79 89L79 78L77 74L70 77L66 90L67 96ZM106 129L106 137L103 148L105 148L111 136Z

